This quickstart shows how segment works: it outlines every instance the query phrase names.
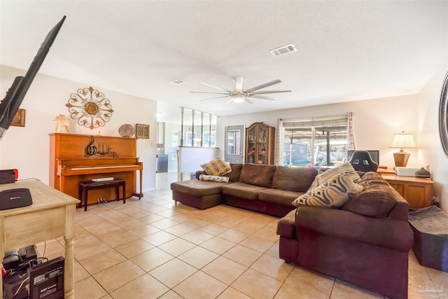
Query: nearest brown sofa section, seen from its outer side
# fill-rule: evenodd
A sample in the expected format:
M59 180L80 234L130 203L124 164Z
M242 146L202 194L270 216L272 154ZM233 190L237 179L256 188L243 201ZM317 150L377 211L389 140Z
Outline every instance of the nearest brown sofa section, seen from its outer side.
M407 298L414 242L409 204L379 174L367 172L359 184L363 192L342 209L302 205L281 218L280 258L388 298Z

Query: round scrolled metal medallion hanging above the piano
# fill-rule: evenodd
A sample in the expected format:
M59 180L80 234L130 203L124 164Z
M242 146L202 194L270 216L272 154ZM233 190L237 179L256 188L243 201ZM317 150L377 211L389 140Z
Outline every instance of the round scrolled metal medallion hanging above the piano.
M92 87L73 92L65 106L69 108L71 118L78 120L78 125L90 127L90 130L106 125L113 113L111 101Z

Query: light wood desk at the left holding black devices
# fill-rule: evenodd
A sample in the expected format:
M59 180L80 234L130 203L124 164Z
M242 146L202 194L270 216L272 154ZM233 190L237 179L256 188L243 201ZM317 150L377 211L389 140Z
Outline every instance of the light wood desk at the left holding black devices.
M64 294L65 298L73 299L73 237L79 200L36 179L0 185L0 191L13 188L28 188L33 204L0 211L0 266L5 251L64 236ZM1 276L0 291L3 292Z

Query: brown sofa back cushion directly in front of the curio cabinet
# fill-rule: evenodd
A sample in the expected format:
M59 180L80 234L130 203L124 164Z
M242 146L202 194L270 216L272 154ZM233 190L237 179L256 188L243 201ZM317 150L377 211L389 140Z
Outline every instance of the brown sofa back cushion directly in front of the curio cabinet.
M271 188L275 165L244 164L239 175L241 183Z

